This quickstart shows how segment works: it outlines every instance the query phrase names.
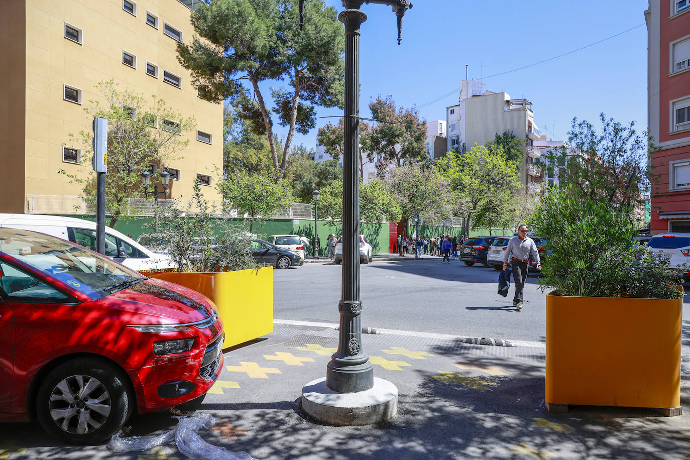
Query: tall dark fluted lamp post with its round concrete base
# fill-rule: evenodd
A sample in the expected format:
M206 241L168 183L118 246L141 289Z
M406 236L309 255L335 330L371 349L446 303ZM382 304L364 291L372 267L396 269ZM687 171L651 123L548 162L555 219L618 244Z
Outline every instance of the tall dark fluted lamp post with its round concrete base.
M397 388L374 377L362 349L362 302L359 300L359 26L364 3L393 7L400 44L402 17L412 8L408 0L342 0L338 16L345 26L345 148L343 154L343 263L338 348L326 368L326 377L302 388L302 408L315 419L333 425L367 425L397 413ZM304 0L299 0L300 23Z

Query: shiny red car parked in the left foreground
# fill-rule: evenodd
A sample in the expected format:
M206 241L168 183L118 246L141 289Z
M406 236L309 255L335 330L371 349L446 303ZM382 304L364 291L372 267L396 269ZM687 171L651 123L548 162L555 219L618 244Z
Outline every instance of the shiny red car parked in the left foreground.
M221 372L212 301L69 241L0 228L0 421L98 443Z

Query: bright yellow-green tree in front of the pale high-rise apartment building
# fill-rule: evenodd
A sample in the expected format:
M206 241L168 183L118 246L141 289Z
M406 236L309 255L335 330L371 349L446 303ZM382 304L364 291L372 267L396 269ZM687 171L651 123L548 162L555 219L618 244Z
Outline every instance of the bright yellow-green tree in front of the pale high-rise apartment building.
M483 217L482 212L495 213L491 202L511 199L520 186L517 164L508 161L502 149L492 151L475 144L465 154L449 152L436 164L444 177L451 181L464 205L465 234L469 234L472 219L486 220L488 217ZM491 220L496 221L495 217Z

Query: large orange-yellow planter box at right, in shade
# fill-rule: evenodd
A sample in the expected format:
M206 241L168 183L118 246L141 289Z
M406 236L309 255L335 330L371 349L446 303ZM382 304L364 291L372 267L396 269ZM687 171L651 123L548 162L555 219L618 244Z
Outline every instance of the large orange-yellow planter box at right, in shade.
M547 295L547 407L679 414L681 326L682 299Z

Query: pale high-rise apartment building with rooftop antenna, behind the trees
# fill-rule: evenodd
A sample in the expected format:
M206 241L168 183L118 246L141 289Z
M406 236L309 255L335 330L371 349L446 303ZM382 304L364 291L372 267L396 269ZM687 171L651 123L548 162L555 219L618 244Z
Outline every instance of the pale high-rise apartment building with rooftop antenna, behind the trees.
M527 99L511 99L506 92L493 92L484 88L483 81L463 80L460 83L460 101L446 108L447 148L469 150L495 139L505 131L525 139L525 161L520 167L520 181L525 190L540 181L540 172L534 160L540 157L534 141L540 139L540 130L534 122L532 103Z

